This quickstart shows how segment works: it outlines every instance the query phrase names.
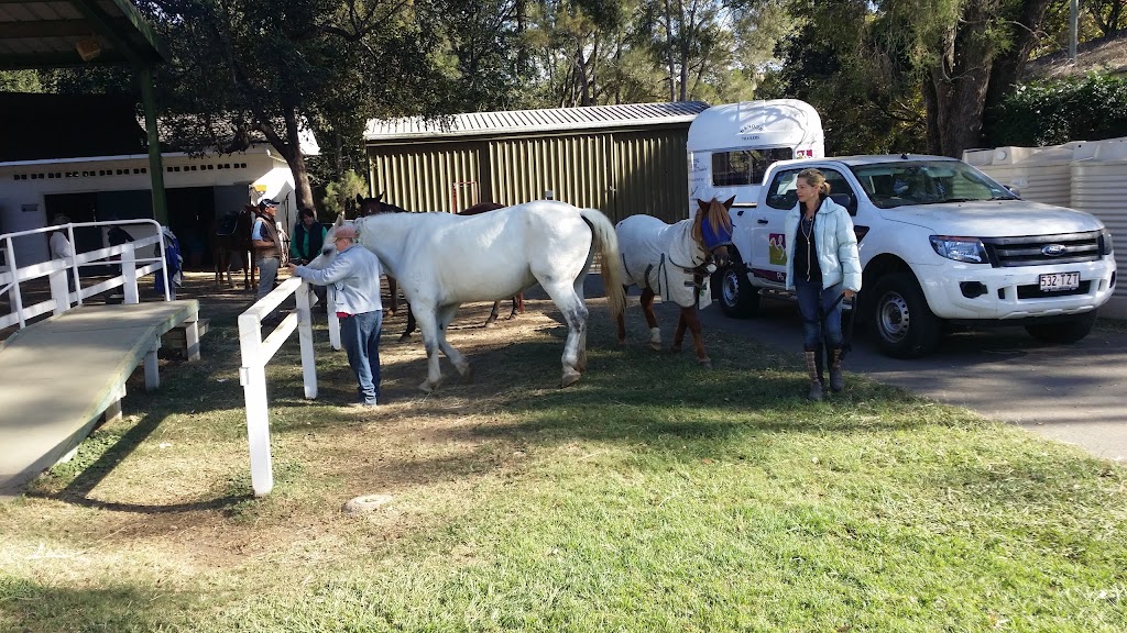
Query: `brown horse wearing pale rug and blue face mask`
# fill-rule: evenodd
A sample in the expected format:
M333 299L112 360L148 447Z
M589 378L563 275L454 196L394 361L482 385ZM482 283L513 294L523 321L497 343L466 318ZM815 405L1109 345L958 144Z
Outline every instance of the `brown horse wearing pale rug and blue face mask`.
M673 335L673 351L681 351L685 330L693 333L693 348L702 367L712 368L712 360L701 340L698 310L706 307L706 282L717 266L728 260L731 244L731 216L728 209L735 196L720 203L696 200L699 208L693 217L676 224L666 224L651 215L631 215L614 228L619 238L620 274L627 286L641 288L641 309L649 324L649 346L662 349L662 330L654 314L654 297L677 304L681 315ZM713 264L715 260L715 264ZM603 260L606 266L607 261ZM701 300L704 301L700 305ZM619 345L625 345L625 319L618 316Z

